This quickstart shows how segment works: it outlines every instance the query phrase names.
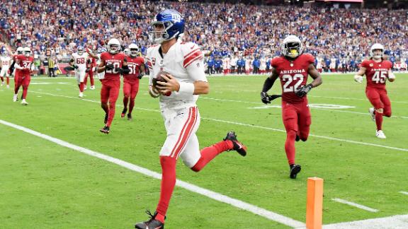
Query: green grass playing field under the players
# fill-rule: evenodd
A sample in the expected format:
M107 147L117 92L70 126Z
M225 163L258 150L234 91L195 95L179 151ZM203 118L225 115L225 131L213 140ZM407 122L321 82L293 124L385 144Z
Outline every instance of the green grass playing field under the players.
M408 74L387 83L394 117L385 118L387 139L375 137L365 85L353 76L324 75L309 94L311 136L296 143L297 180L288 177L280 108L259 98L265 76L211 77L201 96L200 147L237 132L248 146L215 158L202 172L181 160L179 180L305 222L307 177L324 179L323 223L359 221L408 213ZM12 81L12 79L11 79ZM271 91L280 92L277 82ZM13 85L13 83L11 83ZM111 134L101 134L100 84L77 98L74 78L33 78L28 106L0 88L0 120L161 172L159 150L166 132L158 100L143 78L133 120L120 118L122 93ZM272 105L280 105L280 99ZM324 105L324 107L322 107ZM348 108L331 109L329 105ZM0 228L133 228L154 211L160 181L0 124ZM352 201L365 211L332 199ZM289 228L249 211L176 187L166 228Z

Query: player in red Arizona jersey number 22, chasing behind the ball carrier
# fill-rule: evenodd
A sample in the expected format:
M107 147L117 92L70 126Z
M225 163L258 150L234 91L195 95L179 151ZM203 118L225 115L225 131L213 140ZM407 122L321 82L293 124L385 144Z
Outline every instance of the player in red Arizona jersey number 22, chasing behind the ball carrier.
M282 87L282 118L286 129L285 152L290 166L290 178L295 179L300 165L295 164L295 141L306 141L309 136L311 115L307 104L307 93L320 84L322 77L314 67L314 57L302 54L302 42L295 35L289 35L281 45L281 57L271 60L272 74L263 83L261 100L271 103L280 95L268 95L277 78ZM313 78L307 83L307 76Z

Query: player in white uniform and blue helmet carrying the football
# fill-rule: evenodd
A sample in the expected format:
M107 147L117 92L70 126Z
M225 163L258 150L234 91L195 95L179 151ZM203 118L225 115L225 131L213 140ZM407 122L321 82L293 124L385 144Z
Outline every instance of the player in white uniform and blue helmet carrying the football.
M200 151L196 131L200 125L200 112L196 106L198 95L207 94L209 85L204 73L203 53L192 42L181 42L184 18L177 11L166 9L152 21L149 35L158 45L147 50L149 66L149 93L160 99L167 137L160 151L162 187L154 214L137 223L136 228L164 228L164 219L176 184L176 161L180 157L191 170L202 170L215 156L224 151L237 151L246 155L246 147L229 131L224 141ZM152 79L160 71L166 82L153 86Z

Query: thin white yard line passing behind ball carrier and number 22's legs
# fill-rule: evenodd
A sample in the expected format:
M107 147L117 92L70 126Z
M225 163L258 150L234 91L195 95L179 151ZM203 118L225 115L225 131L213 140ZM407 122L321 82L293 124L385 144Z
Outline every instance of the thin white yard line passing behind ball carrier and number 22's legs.
M30 93L39 93L39 94L44 94L44 95L51 95L54 97L63 97L63 98L73 98L73 99L77 99L77 100L84 100L87 102L97 102L99 103L99 101L95 101L95 100L86 100L84 98L77 98L77 97L72 97L72 96L67 96L67 95L55 95L52 93L42 93L42 92L38 92L38 91L30 91ZM123 105L116 105L117 107L123 107ZM160 112L159 110L153 110L153 109L148 109L148 108L142 108L142 107L135 107L134 109L138 109L138 110L146 110L146 111L150 111L150 112ZM271 128L271 127L261 127L261 126L256 126L253 124L245 124L245 123L241 123L241 122L231 122L231 121L225 121L225 120L220 120L220 119L210 119L210 118L205 118L205 117L201 117L201 119L207 119L210 121L214 121L214 122L222 122L222 123L228 123L228 124L236 124L239 126L244 126L244 127L252 127L252 128L258 128L258 129L268 129L271 131L279 131L279 132L285 132L285 130L283 129L275 129L275 128ZM378 144L373 144L373 143L365 143L362 141L353 141L353 140L347 140L347 139L337 139L337 138L332 138L329 136L319 136L319 135L314 135L314 134L309 134L309 136L314 136L316 138L320 138L320 139L328 139L328 140L332 140L332 141L343 141L343 142L348 142L348 143L355 143L358 145L365 145L365 146L375 146L375 147L380 147L380 148L388 148L388 149L392 149L392 150L396 150L396 151L404 151L404 152L408 152L408 148L397 148L397 147L392 147L392 146L382 146L382 145L378 145Z

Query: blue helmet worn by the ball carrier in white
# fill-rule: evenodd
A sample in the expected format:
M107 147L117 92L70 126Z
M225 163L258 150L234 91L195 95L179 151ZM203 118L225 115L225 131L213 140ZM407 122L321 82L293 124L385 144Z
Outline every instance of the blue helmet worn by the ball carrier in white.
M152 31L149 31L149 37L152 42L162 44L166 40L179 37L184 33L184 18L175 10L165 9L157 13L150 25ZM164 30L157 30L158 26L162 26Z

